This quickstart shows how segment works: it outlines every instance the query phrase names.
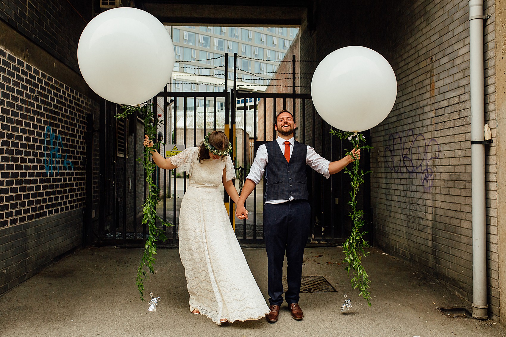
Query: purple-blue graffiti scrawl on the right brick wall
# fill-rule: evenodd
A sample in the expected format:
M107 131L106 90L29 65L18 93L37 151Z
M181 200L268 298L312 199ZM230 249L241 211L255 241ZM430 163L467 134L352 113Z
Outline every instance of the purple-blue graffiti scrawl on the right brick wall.
M441 145L436 139L427 140L422 134L415 135L411 129L388 137L385 161L391 171L401 176L404 172L410 176L419 174L424 190L430 191L434 182L433 160L439 158L440 152Z

